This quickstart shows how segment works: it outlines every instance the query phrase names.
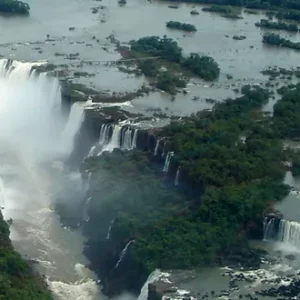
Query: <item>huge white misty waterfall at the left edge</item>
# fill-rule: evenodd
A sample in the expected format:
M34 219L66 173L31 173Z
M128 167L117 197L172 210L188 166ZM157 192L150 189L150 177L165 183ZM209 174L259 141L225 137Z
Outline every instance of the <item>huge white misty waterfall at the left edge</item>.
M83 108L73 104L66 121L59 80L38 74L37 65L0 60L0 137L16 144L26 159L43 160L70 153Z

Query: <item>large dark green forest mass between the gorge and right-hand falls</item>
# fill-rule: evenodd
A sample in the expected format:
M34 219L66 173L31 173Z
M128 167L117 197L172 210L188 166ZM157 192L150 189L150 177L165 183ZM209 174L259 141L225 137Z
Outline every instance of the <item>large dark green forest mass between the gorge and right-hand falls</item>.
M255 224L289 192L282 184L283 162L291 157L280 137L300 136L300 86L284 93L274 117L259 112L269 96L265 89L245 86L241 97L159 131L165 150L175 153L172 177L180 166L179 191L174 177L170 182L161 176L149 153L114 151L86 161L84 169L92 172L86 253L93 263L102 263L101 272L103 261L106 271L112 270L130 240L135 243L123 270L130 280L122 277L128 285L132 278L143 281L155 268L222 263L229 253L247 249ZM100 259L112 219L109 254ZM105 229L99 229L104 220Z

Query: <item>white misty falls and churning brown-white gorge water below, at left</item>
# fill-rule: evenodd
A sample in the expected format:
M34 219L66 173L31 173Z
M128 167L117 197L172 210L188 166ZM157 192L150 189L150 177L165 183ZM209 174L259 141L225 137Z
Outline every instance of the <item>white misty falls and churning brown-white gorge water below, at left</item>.
M80 174L65 161L84 108L75 103L65 116L59 81L38 74L39 64L0 60L0 206L13 220L15 248L36 262L56 299L99 299L83 237L63 228L53 211L55 201L83 193Z

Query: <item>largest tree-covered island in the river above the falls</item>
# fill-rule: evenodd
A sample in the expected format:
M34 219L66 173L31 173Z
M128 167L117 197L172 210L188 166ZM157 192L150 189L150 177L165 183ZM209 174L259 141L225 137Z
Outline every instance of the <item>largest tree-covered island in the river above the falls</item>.
M177 88L184 88L189 77L213 81L220 74L212 57L198 53L184 56L178 43L166 36L133 40L129 49L120 47L119 51L125 59L135 59L138 69L156 88L170 94L175 94Z

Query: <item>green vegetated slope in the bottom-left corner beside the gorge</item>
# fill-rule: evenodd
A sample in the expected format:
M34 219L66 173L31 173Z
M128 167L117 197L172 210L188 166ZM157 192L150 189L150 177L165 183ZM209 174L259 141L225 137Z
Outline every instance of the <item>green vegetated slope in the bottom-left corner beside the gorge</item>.
M0 299L50 300L45 284L30 265L16 253L9 239L9 227L0 214Z

